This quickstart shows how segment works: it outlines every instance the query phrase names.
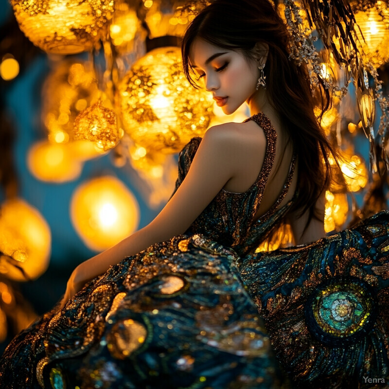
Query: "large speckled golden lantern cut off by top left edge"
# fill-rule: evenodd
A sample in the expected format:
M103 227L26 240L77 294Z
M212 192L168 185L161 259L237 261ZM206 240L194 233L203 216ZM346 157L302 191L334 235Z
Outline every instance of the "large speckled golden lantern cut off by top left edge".
M113 0L11 0L20 30L47 53L93 48L113 14Z

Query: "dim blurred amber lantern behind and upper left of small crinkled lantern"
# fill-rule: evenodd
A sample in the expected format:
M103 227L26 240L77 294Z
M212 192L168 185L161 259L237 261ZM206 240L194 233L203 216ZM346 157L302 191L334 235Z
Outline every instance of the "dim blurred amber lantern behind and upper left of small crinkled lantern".
M56 65L42 90L42 121L49 140L72 141L75 118L97 102L100 94L91 63L62 61Z

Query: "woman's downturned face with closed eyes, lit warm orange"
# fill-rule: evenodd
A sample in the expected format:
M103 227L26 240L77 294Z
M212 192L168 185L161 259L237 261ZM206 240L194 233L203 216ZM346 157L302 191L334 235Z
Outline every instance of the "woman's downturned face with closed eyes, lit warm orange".
M256 92L258 65L254 60L247 60L243 53L196 38L189 60L198 83L212 92L216 104L228 115Z

